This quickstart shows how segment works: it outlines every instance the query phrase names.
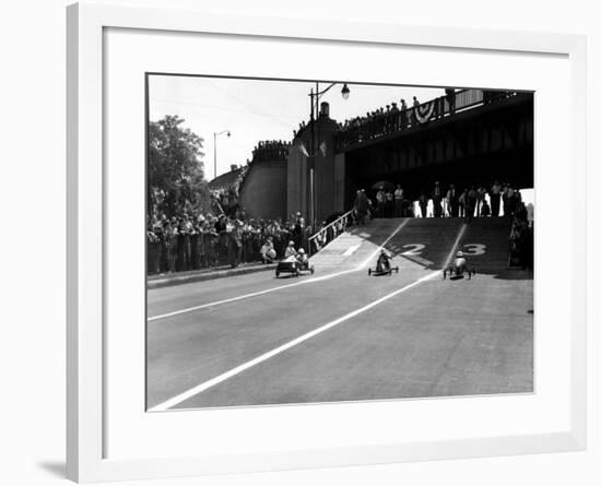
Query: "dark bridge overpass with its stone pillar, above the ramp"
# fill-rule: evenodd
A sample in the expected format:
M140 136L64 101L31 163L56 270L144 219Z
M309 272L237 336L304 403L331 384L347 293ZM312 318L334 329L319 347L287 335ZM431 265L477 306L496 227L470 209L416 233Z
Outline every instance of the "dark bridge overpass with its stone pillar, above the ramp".
M436 180L462 188L490 187L498 179L531 188L533 99L532 93L466 90L452 109L447 97L423 104L427 117L422 121L410 109L404 123L397 121L400 114L389 112L347 129L326 110L292 143L287 214L309 215L315 208L321 221L347 211L357 189L374 195L372 186L380 180L401 183L414 200L421 191L429 193ZM313 145L319 150L308 156L306 147Z

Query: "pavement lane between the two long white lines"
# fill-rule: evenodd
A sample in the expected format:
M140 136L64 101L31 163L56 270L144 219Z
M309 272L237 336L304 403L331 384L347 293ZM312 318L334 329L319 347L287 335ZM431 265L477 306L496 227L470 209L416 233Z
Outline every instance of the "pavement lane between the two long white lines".
M431 273L403 259L398 263L401 271L393 276L369 277L366 271L353 272L150 321L149 407ZM204 287L207 283L198 285ZM228 282L227 287L234 286ZM240 287L243 292L250 289L246 283ZM190 286L188 298L203 291Z

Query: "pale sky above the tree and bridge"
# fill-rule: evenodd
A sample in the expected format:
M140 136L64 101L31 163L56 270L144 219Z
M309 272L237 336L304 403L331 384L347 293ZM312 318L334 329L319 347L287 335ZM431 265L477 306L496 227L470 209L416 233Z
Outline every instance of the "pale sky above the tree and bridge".
M320 90L329 83L320 84ZM203 163L207 179L213 170L213 133L229 130L231 137L217 137L217 175L229 171L232 164L245 164L260 140L292 141L293 130L310 114L309 92L314 82L235 80L202 76L151 75L149 79L150 119L177 115L204 139ZM321 97L330 104L330 117L337 121L365 115L391 102L413 96L420 102L443 96L444 88L376 86L349 83L349 99L341 95L342 84Z

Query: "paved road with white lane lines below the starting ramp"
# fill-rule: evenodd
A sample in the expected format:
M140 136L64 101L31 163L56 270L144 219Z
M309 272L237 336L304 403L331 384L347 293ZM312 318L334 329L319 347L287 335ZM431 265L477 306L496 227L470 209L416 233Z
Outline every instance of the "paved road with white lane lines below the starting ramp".
M441 262L467 233L446 224L444 237L408 225L387 247ZM318 269L149 291L149 407L532 391L529 275L443 281L420 258L399 254L390 277Z

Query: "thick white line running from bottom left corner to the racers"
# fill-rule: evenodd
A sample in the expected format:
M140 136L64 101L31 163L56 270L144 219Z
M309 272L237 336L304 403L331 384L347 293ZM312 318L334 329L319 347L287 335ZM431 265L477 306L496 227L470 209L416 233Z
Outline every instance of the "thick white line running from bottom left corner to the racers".
M224 374L222 375L219 375L216 376L215 378L212 378L208 381L204 381L187 391L185 391L184 393L180 393L176 396L174 396L173 399L169 399L163 403L160 403L158 405L155 405L153 407L151 407L149 410L149 412L164 412L166 410L169 410L178 404L180 404L181 402L185 402L186 400L188 399L191 399L192 396L195 395L198 395L199 393L202 393L203 391L227 380L228 378L232 378L236 375L239 375L240 372L247 370L248 368L251 368L254 366L257 366L258 364L260 363L263 363L270 358L272 358L273 356L276 356L281 353L283 353L284 351L286 349L290 349L291 347L294 347L307 340L310 340L311 337L315 337L316 335L318 334L321 334L322 332L326 332L327 330L335 327L335 325L339 325L341 324L342 322L344 321L347 321L349 319L352 319L356 316L358 316L360 313L362 312L365 312L366 310L369 310L376 306L378 306L379 304L388 300L388 299L391 299L392 297L403 293L403 292L406 292L409 291L410 288L413 288L415 287L416 285L420 285L422 282L426 282L431 278L434 278L436 275L439 275L440 274L440 271L437 270L435 272L432 272L431 274L428 275L425 275L419 280L416 280L415 282L409 284L409 285L405 285L404 287L401 287L394 292L391 292L390 294L387 294L385 295L384 297L380 297L379 299L377 300L374 300L373 303L370 304L367 304L366 306L364 307L361 307L356 310L353 310L352 312L349 312L331 322L328 322L327 324L325 325L321 325L320 328L317 328L317 329L314 329L313 331L309 331L307 332L306 334L303 334L292 341L288 341L287 343L285 344L282 344L281 346L278 346L275 347L274 349L271 349L254 359L250 359L249 361L246 361L239 366L236 366L235 368L232 368L231 370L228 371L225 371Z

